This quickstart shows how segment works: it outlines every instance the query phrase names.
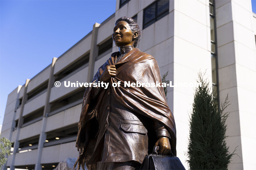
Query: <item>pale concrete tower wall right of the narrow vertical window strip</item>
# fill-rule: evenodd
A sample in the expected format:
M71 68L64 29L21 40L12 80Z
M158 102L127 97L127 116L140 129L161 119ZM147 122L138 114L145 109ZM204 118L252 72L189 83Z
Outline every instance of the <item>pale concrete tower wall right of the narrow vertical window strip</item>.
M255 169L255 33L251 0L215 1L220 102L229 95L226 139L233 156L228 169Z

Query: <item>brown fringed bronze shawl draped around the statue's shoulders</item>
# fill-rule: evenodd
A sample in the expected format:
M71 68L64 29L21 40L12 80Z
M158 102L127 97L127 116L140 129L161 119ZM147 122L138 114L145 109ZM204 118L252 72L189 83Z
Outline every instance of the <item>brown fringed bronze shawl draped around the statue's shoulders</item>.
M128 52L120 61L115 63L118 52L111 55L104 65L102 65L92 82L98 80L98 77L103 73L106 65L115 65L117 73L115 77L111 77L108 88L115 95L119 103L129 110L146 116L153 121L157 121L164 125L169 131L171 139L171 150L176 155L176 126L173 113L170 111L167 100L164 94L163 87L124 87L124 81L130 83L156 83L162 82L160 71L156 59L151 55L141 52L138 48L133 48ZM113 87L112 83L121 81L120 87ZM76 147L79 151L79 157L74 167L78 163L78 167L82 165L84 168L85 163L90 160L91 154L94 152L97 139L90 132L90 120L97 117L99 104L103 95L106 95L106 90L102 90L98 95L98 100L95 102L92 99L93 90L87 88L82 102L82 111L78 124L78 135ZM156 141L155 141L156 142ZM96 168L95 166L86 165L88 169Z

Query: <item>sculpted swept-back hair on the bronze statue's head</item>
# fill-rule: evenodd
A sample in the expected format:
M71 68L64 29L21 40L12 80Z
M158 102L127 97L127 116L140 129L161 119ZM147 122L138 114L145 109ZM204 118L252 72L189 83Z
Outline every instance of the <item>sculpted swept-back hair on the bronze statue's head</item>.
M133 21L133 18L129 18L127 16L122 16L119 19L116 20L115 25L120 22L120 21L125 21L129 24L129 27L131 28L132 33L134 33L135 31L138 32L138 37L135 38L134 47L137 47L140 43L141 40L141 28L139 26L139 24L137 24L136 22Z

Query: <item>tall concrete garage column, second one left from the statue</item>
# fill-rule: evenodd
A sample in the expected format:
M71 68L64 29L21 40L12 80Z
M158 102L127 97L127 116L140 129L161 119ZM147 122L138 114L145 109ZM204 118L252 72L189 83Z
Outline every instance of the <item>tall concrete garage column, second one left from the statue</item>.
M46 101L45 101L45 105L44 105L42 129L41 129L41 133L40 133L40 137L39 137L39 141L38 141L37 158L36 158L36 165L35 165L35 169L37 169L37 170L42 169L41 156L42 156L42 149L44 147L44 143L45 143L45 140L46 140L46 133L45 133L46 120L47 120L47 117L48 117L48 113L50 112L50 109L51 109L49 99L50 99L50 95L51 95L51 87L52 87L52 85L54 84L54 81L55 81L53 72L54 72L54 66L55 66L56 60L57 60L57 58L54 57L52 59L52 63L51 63L51 71L50 71L50 75L49 75L50 77L49 77L49 81L48 81Z

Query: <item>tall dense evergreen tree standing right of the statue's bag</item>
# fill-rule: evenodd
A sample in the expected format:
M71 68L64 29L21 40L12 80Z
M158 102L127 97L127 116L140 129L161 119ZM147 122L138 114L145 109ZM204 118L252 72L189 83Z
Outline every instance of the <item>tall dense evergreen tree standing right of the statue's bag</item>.
M229 112L224 113L228 107L228 95L218 109L218 101L210 92L209 82L198 74L202 87L195 90L193 111L190 116L190 133L188 146L189 169L228 169L231 157L235 155L228 152L225 141L225 124ZM237 155L237 154L236 154Z

